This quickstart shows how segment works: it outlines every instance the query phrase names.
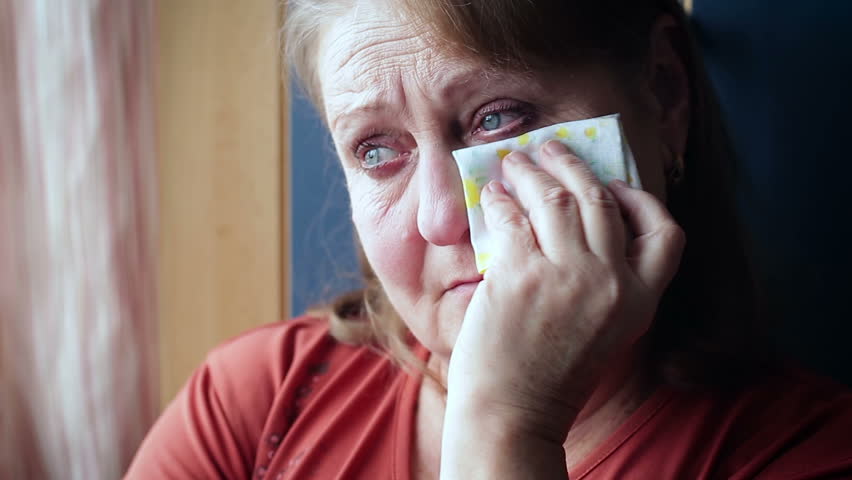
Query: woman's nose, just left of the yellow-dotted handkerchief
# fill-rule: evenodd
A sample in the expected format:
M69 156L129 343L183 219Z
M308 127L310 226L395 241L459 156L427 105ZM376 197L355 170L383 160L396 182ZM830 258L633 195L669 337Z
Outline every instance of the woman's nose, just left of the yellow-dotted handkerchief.
M421 150L417 170L420 235L434 245L463 241L468 231L464 190L449 149Z

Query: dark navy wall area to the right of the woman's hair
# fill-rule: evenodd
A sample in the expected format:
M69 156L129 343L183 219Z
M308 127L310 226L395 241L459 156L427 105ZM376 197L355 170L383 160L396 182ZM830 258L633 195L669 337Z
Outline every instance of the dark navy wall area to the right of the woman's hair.
M852 2L696 0L781 347L852 385Z

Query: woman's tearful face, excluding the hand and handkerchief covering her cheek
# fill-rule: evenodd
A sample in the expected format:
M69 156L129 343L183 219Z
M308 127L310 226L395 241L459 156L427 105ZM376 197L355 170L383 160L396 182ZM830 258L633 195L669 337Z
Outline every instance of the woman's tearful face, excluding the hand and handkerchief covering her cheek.
M655 122L604 68L494 71L436 48L423 28L359 2L322 36L318 74L352 219L408 327L448 357L480 278L451 151L621 113L646 190L664 191Z

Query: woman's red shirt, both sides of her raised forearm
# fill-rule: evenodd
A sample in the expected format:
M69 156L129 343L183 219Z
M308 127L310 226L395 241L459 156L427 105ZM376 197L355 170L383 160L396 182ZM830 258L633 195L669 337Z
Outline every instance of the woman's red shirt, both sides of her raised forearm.
M257 328L210 353L126 478L408 480L421 379L321 319ZM570 478L852 478L852 392L801 371L736 393L663 387Z

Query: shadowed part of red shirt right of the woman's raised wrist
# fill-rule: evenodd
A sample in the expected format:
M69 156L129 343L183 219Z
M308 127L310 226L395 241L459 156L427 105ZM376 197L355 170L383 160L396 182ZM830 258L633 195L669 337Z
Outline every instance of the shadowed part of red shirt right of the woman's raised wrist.
M576 477L852 478L849 432L852 391L802 369L737 389L662 388Z

